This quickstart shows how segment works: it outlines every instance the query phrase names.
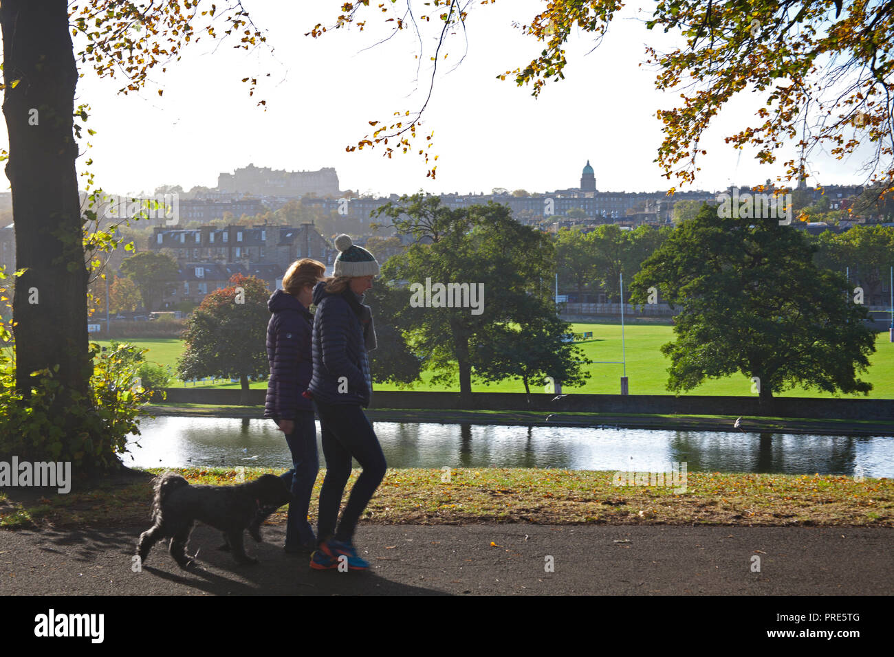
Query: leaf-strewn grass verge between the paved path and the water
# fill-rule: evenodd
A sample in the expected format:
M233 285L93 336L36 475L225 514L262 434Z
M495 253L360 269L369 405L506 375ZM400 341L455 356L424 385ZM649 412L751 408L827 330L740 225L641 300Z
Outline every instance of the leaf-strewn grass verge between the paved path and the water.
M152 468L158 474L162 468ZM192 484L234 484L227 468L175 470ZM251 479L281 470L246 468ZM349 488L359 471L351 475ZM323 472L316 479L316 511ZM613 484L612 472L534 468L389 469L363 520L377 524L894 526L894 480L690 472L686 491ZM0 527L147 525L151 489L105 485L30 502L0 501ZM345 497L342 501L347 501ZM284 523L285 509L269 522ZM311 516L316 522L316 517Z

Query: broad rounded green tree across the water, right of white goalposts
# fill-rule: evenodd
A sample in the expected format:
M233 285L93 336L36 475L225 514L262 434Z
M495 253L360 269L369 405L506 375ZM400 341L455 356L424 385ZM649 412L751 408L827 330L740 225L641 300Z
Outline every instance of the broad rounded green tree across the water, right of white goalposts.
M875 350L844 276L814 264L802 232L776 218L724 219L704 206L679 225L631 285L644 303L658 288L676 317L668 389L737 372L759 379L762 402L800 384L824 392L869 392L857 378Z

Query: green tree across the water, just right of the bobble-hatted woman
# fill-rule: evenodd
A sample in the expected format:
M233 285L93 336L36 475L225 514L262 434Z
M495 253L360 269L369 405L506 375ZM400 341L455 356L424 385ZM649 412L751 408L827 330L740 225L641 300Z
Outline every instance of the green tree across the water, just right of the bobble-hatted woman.
M552 243L493 201L452 210L441 206L437 197L416 194L376 212L391 217L399 233L417 240L383 267L385 280L408 282L412 293L409 305L397 313L398 324L404 327L411 350L440 372L434 381L452 381L459 370L460 403L468 405L472 371L479 366L485 371L477 345L510 338L496 326L526 324L535 321L537 313L554 313ZM465 285L468 295L451 297L448 288L439 302L436 284ZM484 294L474 307L470 295L481 291ZM468 303L448 307L457 297Z

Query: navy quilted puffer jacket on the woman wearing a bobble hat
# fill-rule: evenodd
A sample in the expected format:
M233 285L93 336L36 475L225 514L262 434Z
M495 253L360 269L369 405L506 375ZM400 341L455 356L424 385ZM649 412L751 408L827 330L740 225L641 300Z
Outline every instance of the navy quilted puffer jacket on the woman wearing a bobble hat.
M372 313L361 299L350 288L327 292L325 282L314 288L314 366L308 392L315 400L369 406L373 385L367 349L375 349L375 329ZM339 381L342 376L344 383Z

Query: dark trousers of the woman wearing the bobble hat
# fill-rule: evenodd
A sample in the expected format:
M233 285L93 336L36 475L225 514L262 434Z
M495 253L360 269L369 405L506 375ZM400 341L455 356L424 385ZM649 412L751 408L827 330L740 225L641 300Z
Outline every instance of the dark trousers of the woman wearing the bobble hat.
M385 476L385 457L373 425L358 404L327 404L314 400L320 418L326 476L320 490L320 509L316 526L317 541L333 535L335 540L350 543L360 514L367 508L375 489ZM350 477L351 457L357 459L363 472L350 491L342 521L335 531L338 509L344 487Z

